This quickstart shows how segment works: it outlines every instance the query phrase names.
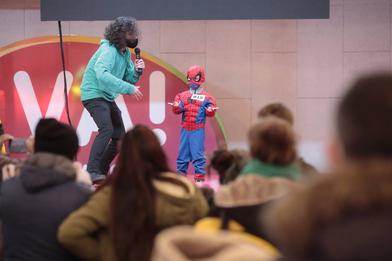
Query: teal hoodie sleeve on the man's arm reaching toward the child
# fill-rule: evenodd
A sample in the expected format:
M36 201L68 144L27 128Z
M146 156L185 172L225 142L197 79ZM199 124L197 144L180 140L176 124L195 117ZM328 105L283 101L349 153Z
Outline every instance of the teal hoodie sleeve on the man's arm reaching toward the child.
M132 95L135 86L123 81L122 79L118 79L116 76L111 74L111 70L114 67L114 61L116 61L116 54L113 52L116 52L116 50L102 49L102 52L95 63L94 70L98 83L103 88L117 92L118 94Z

